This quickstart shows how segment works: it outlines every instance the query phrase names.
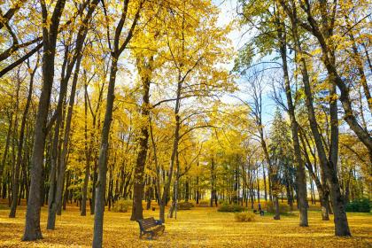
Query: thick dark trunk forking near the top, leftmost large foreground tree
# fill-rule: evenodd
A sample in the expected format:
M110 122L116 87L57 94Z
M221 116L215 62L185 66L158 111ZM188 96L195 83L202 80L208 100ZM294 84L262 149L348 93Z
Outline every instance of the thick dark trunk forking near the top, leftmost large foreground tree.
M42 204L40 191L43 183L43 151L48 132L47 119L54 78L54 58L59 20L65 8L65 3L66 0L58 0L51 17L50 25L48 25L47 8L45 3L42 2L43 25L45 26L43 27L43 86L35 121L35 140L34 150L31 156L31 183L27 202L25 233L23 235L24 241L43 238L40 229L40 205Z

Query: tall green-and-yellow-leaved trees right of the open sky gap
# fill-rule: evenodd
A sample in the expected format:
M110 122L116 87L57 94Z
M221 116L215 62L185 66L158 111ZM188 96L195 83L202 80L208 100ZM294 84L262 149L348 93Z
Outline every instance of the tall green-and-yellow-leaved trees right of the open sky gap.
M371 113L367 80L371 72L368 3L241 1L239 14L242 25L252 27L256 34L241 50L236 70L244 73L253 65L252 54L258 54L261 63L275 65L261 66L258 70L282 71L282 79L274 79L274 97L291 120L300 225L307 225L306 167L320 194L323 219L328 218L330 196L335 234L350 236L345 213L345 197L349 192L346 189L343 194L338 175L339 160L344 155L339 153L339 129L347 125L353 132L344 135L345 139L354 139L345 147L354 155L367 158L360 160L360 165L363 164L369 177L372 139L368 126ZM274 54L276 57L267 61L267 56ZM363 146L355 150L350 143L356 145L358 141ZM261 144L265 151L262 138ZM270 165L270 158L266 157ZM317 164L320 177L314 168Z

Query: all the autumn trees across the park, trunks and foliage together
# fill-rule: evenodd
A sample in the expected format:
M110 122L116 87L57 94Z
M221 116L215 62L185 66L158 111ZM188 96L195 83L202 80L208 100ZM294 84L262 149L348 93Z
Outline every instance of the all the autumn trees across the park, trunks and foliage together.
M300 226L310 195L323 220L334 213L336 235L350 235L345 202L371 187L369 47L357 18L367 3L239 4L257 35L231 74L231 27L209 1L2 3L1 190L11 218L27 199L23 240L43 237L44 204L55 229L68 201L81 215L89 202L100 247L105 205L120 198L133 199L132 220L155 199L166 221L180 198L252 207L264 198L280 219L284 194ZM248 93L223 103L237 77ZM267 95L285 112L271 125Z

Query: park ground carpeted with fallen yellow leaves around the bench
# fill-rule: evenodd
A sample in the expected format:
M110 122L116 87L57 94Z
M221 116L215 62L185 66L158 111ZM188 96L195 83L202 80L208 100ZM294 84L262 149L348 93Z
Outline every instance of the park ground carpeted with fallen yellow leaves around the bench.
M81 217L79 209L69 206L58 216L56 229L46 230L47 209L42 210L43 240L21 242L25 207L17 218L8 218L9 210L0 210L0 247L90 247L93 217ZM166 232L157 240L139 239L138 224L129 221L130 213L105 212L104 247L372 247L372 214L348 213L353 237L333 235L333 221L321 221L321 213L309 213L309 228L298 227L298 215L257 216L254 222L236 222L233 213L200 207L167 219ZM145 217L158 212L145 211Z

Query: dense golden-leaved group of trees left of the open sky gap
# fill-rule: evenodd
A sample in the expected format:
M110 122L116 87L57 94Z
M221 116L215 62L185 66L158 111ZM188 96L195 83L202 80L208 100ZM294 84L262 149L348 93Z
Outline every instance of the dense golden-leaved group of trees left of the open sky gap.
M235 88L223 66L229 27L217 26L217 8L207 1L2 4L2 190L10 217L27 198L23 240L43 237L44 202L47 229L55 229L68 199L81 201L81 215L90 199L99 247L105 204L130 195L132 219L143 218L149 180L164 220L171 187L198 160L194 133L216 128L218 98Z

